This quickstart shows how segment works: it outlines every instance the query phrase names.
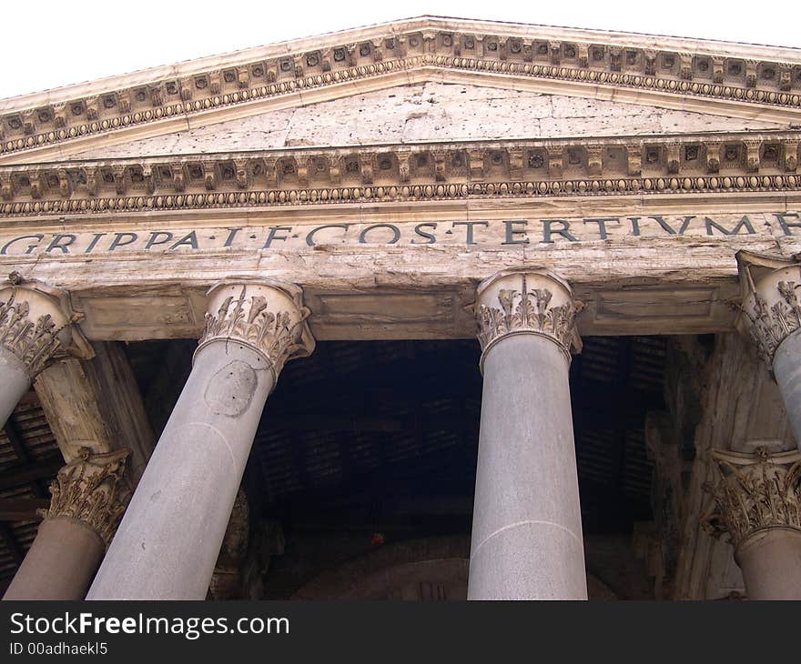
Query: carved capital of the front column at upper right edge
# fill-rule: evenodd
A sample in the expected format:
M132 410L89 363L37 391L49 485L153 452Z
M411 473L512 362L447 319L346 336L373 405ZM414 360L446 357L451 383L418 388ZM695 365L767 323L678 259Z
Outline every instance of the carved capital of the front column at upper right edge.
M737 265L743 295L739 325L747 328L759 356L773 367L779 344L801 329L801 265L746 251L737 253Z

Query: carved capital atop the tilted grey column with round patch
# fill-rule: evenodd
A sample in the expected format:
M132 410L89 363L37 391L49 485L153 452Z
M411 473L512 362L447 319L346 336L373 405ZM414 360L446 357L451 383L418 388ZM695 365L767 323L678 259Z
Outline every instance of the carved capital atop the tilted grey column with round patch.
M270 280L229 279L208 290L206 327L198 350L217 341L236 341L267 357L278 379L287 360L314 350L299 287ZM196 356L197 356L196 351Z

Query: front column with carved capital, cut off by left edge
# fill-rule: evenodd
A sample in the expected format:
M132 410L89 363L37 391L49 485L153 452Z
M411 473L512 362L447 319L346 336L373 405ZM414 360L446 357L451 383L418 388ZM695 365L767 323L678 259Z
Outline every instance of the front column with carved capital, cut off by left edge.
M78 319L69 297L56 288L26 281L17 272L0 282L0 428L57 353L92 356L73 325Z

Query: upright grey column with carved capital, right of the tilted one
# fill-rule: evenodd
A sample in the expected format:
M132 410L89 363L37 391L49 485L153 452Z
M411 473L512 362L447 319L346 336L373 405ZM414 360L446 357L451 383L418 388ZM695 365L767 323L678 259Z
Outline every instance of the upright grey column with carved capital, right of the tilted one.
M468 599L587 599L568 370L570 287L505 270L478 288L484 377Z

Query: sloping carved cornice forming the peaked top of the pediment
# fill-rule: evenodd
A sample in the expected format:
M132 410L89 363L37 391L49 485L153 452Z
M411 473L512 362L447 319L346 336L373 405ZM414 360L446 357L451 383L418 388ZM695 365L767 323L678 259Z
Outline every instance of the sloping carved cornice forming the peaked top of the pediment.
M801 123L799 49L423 17L2 101L0 162L425 80Z

